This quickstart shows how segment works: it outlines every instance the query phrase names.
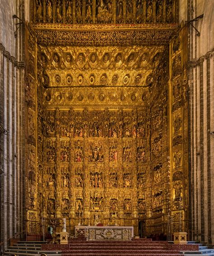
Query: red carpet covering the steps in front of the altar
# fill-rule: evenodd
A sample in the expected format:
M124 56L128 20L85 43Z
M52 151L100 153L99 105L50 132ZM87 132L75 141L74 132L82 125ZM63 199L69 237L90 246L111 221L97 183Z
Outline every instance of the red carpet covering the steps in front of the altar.
M42 250L59 250L62 256L178 256L179 251L198 250L198 245L174 245L151 239L134 239L132 241L86 241L72 239L68 245L46 244Z

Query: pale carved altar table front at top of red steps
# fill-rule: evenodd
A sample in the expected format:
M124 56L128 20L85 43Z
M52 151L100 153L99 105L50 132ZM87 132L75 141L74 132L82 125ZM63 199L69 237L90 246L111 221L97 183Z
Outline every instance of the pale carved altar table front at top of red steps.
M131 240L134 227L127 226L86 226L86 240Z

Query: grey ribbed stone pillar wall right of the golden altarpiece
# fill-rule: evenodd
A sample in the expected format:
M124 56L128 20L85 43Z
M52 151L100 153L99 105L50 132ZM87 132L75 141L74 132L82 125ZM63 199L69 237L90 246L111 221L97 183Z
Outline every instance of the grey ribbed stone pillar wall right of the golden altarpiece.
M214 243L214 3L188 1L189 160L192 239ZM211 238L212 237L212 238Z

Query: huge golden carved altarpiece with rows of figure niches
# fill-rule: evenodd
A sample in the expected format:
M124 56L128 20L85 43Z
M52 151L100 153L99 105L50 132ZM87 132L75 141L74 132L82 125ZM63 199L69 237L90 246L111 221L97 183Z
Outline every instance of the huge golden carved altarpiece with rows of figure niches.
M32 0L28 235L66 218L188 228L185 29L177 0ZM173 37L173 35L176 35Z

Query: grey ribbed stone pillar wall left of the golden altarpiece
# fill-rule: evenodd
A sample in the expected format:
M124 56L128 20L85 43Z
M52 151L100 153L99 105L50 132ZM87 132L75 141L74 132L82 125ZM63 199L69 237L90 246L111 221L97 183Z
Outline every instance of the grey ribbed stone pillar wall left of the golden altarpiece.
M24 26L17 26L20 21L13 18L13 14L23 17L24 1L2 0L0 5L0 242L3 251L9 238L24 229Z

